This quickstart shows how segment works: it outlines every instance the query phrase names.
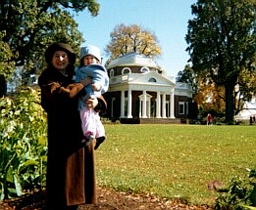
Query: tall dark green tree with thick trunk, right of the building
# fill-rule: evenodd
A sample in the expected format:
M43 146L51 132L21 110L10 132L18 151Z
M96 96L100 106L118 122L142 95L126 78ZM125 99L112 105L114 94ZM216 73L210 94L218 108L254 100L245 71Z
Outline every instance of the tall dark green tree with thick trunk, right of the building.
M225 87L226 121L232 123L234 87L240 72L255 70L255 0L198 0L196 16L188 21L186 42L194 71L207 72L217 86Z

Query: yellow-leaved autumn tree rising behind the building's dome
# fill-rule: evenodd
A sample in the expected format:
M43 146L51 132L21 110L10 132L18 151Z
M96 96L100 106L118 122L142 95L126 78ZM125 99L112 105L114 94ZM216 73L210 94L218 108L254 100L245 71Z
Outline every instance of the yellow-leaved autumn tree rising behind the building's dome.
M161 55L161 48L158 46L156 35L137 24L119 24L110 36L111 41L105 49L106 53L111 54L110 60L131 52L152 58Z

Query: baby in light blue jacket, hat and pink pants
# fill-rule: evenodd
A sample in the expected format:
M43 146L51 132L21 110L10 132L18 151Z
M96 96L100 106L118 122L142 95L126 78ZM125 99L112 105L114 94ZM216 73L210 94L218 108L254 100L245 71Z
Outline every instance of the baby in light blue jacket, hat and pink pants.
M99 112L85 104L87 99L98 98L109 88L109 77L106 68L101 64L100 49L96 46L85 46L80 49L80 65L76 72L76 81L90 79L91 84L86 85L86 95L79 99L83 142L87 145L96 139L95 149L106 139L105 129L100 121Z

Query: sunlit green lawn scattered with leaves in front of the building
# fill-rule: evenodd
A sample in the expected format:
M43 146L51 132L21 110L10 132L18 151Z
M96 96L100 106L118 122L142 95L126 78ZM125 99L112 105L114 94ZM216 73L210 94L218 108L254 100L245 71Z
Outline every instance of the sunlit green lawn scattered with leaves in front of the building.
M255 167L255 126L105 125L96 150L98 185L212 205L208 184L228 186Z

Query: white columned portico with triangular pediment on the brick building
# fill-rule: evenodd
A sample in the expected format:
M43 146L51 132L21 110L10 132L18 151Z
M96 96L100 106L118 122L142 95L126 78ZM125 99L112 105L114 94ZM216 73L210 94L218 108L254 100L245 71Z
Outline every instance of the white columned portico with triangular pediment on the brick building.
M149 77L156 82L148 82ZM112 83L110 88L111 92L120 93L120 118L175 118L175 84L171 80L156 72L129 73L120 79L123 81L118 82L118 77L115 77L117 83ZM118 101L112 99L113 103Z

